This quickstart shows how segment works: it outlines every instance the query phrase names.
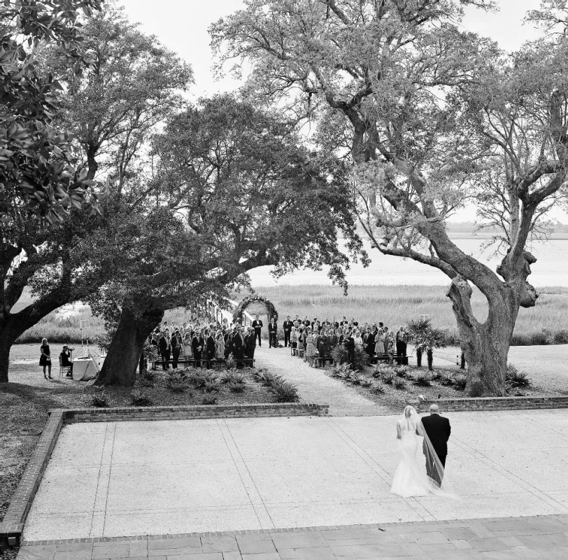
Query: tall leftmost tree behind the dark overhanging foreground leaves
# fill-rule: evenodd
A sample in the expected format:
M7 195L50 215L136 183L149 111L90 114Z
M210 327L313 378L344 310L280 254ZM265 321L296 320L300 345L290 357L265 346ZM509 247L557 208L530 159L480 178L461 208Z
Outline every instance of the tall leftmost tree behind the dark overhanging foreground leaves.
M90 293L97 253L92 260L83 258L89 240L111 239L115 221L127 224L131 215L139 216L146 208L151 189L144 180L141 155L147 155L150 134L159 122L182 106L180 91L192 77L185 63L125 22L120 10L95 12L85 19L81 32L78 57L92 63L80 75L71 73L62 80L57 123L73 133L67 157L84 166L87 180L97 176L112 213L106 219L73 208L55 227L21 205L8 211L0 246L0 382L8 381L10 346L22 332L57 307ZM67 65L64 45L48 46L38 66L62 73ZM117 217L120 213L122 218ZM108 244L107 250L114 248L120 246ZM26 286L34 303L14 312Z

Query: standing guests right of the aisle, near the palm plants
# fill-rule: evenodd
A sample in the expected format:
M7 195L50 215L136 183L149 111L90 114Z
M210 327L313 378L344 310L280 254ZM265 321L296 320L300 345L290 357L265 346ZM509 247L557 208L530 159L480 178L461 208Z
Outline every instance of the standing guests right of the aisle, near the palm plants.
M331 321L326 317L320 321L317 317L310 321L307 316L303 320L297 315L292 321L287 316L283 323L284 346L290 346L292 354L303 356L304 361L313 367L318 363L315 358L327 358L336 346L343 347L344 360L353 363L355 348L359 347L369 355L389 358L392 365L395 356L406 356L406 346L409 336L404 326L397 332L390 330L383 323L359 323L352 318L350 321L342 317Z

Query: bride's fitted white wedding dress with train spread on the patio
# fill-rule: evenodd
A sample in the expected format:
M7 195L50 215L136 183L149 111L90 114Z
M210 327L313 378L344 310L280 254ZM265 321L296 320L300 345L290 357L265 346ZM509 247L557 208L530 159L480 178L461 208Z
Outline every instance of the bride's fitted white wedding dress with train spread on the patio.
M427 496L434 493L439 496L448 496L447 489L436 484L426 474L426 458L422 450L423 438L416 435L416 429L420 429L422 424L418 426L420 419L412 419L410 421L399 421L398 425L401 431L399 441L399 450L402 459L392 479L390 491L402 496L410 498L411 496ZM420 444L420 451L419 445Z

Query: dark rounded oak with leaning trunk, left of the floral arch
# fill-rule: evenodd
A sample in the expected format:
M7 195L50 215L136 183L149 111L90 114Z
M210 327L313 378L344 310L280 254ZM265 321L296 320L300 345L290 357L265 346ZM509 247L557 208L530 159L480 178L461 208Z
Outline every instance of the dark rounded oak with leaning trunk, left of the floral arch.
M149 224L129 228L120 215L115 223L148 237L111 236L95 263L106 282L97 280L90 300L118 324L99 384L132 384L145 337L165 309L222 300L262 265L276 274L329 265L344 283L349 261L337 248L338 230L354 257L361 248L344 166L309 151L276 113L230 95L202 99L170 118L152 144L156 175L143 201L147 218L139 218ZM88 241L93 258L97 242Z

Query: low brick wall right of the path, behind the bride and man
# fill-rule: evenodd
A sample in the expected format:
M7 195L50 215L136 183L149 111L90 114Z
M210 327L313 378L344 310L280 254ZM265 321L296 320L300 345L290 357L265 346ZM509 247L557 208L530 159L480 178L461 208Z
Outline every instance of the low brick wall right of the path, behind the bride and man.
M568 408L568 396L439 398L416 401L413 405L418 412L427 412L430 405L438 405L441 412Z

